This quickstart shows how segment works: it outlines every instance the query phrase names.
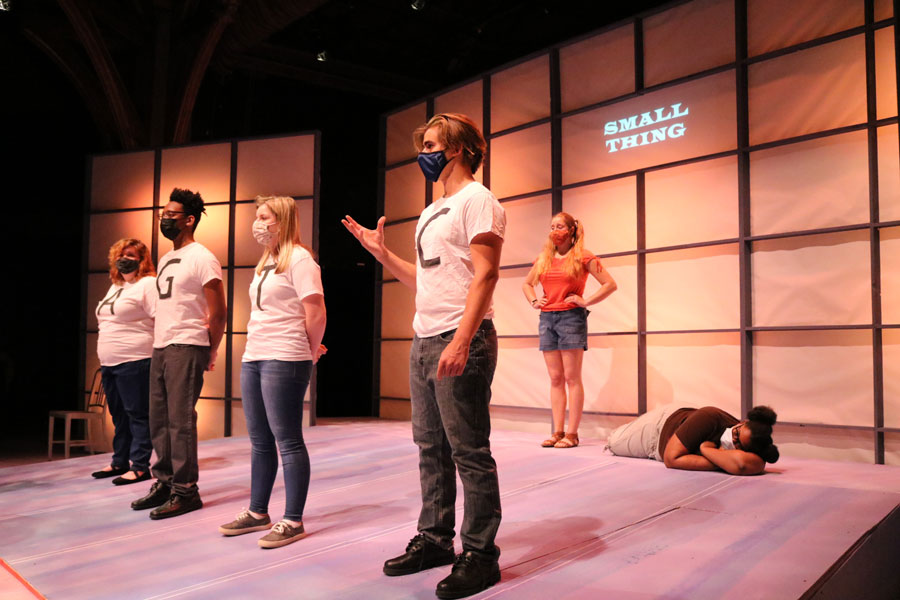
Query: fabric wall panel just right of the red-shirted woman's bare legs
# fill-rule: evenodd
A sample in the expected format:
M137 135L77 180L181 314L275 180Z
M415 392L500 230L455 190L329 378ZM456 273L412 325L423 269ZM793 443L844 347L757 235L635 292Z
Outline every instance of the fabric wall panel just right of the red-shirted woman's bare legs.
M545 369L546 371L546 369ZM637 414L637 336L588 338L581 365L584 410ZM544 384L550 407L550 379Z

